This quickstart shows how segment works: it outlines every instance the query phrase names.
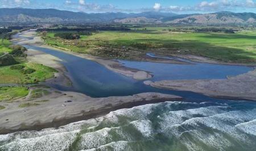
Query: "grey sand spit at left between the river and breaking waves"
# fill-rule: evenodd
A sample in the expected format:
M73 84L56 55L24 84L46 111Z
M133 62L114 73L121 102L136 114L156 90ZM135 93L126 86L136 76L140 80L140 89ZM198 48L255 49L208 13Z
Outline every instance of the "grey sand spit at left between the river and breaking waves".
M183 99L176 95L160 93L90 98L84 94L66 91L59 91L61 94L56 94L53 91L57 90L52 88L50 91L51 95L40 98L48 99L48 101L40 103L38 106L25 108L18 106L20 101L35 102L34 100L19 99L9 103L6 110L1 111L0 135L18 131L40 131L45 128L57 128L76 121L98 118L122 108L166 101L181 101ZM67 102L67 100L72 100L72 102Z

